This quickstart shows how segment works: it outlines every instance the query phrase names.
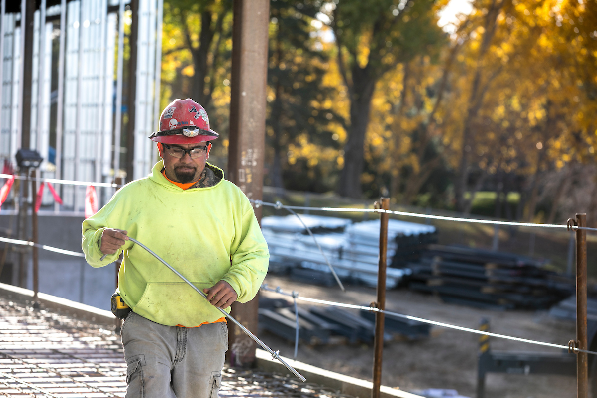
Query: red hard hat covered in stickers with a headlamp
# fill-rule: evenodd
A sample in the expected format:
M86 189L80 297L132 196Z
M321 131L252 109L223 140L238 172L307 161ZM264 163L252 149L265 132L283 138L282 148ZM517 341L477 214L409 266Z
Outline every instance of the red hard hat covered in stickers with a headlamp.
M205 109L190 98L177 98L165 107L158 128L149 138L164 144L196 144L220 137L210 128Z

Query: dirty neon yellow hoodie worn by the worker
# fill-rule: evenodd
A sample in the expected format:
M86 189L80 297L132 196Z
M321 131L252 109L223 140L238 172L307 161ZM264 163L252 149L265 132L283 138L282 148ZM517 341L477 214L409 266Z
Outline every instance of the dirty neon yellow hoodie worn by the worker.
M147 178L122 187L93 217L83 222L82 248L92 267L113 263L120 252L103 255L101 233L126 230L199 289L226 280L238 301L250 301L267 272L267 243L247 196L224 173L212 187L182 190L153 166ZM118 272L118 291L137 314L162 325L198 326L221 318L208 303L149 252L127 240ZM230 311L230 308L227 308Z

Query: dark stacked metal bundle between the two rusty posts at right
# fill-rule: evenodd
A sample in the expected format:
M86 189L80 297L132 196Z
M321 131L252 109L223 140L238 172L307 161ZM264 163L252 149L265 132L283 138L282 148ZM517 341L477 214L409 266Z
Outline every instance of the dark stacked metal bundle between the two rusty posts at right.
M495 308L549 308L574 293L570 277L544 270L546 261L460 246L430 245L410 264L410 288L450 303Z

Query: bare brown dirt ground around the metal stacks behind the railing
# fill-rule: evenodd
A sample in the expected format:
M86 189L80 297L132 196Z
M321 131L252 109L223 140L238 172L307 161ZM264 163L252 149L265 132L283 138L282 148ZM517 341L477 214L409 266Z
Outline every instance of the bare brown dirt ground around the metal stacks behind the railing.
M342 292L334 286L308 285L288 278L268 275L271 288L280 286L285 292L297 291L304 297L341 303L368 305L376 300L374 288L347 286ZM261 292L281 298L272 292ZM310 303L300 302L300 306ZM408 289L387 291L386 309L438 322L467 328L478 328L482 317L490 319L491 331L498 334L567 345L576 336L574 322L555 320L546 311L496 311L445 304L432 295ZM294 342L283 340L266 331L260 338L273 350L293 357ZM515 341L491 338L493 350L558 352L558 348L542 347ZM478 335L445 328L432 328L429 338L416 342L392 341L383 351L381 382L391 387L412 391L424 388L453 388L459 394L475 398ZM312 346L301 342L297 360L330 371L371 380L373 344L328 344ZM485 398L573 398L576 378L558 375L488 374Z

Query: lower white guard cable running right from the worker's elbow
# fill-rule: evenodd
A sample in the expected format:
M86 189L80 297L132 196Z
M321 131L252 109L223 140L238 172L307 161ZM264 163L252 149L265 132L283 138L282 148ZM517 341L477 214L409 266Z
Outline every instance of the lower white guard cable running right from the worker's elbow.
M261 289L263 289L265 291L269 291L269 292L275 292L278 294L294 297L293 294L283 292L282 289L279 287L276 289L269 288L267 286L267 283L264 283L263 285L261 285ZM395 312L387 311L387 310L380 310L379 308L375 308L375 307L365 307L365 306L356 306L355 304L336 303L334 301L319 300L317 298L301 297L300 295L296 296L296 300L307 301L308 303L324 304L326 306L331 306L331 307L352 308L354 310L367 310L367 311L371 311L371 312L378 312L378 313L383 313L387 316L393 316L396 318L408 319L408 320L416 320L417 322L427 323L427 324L433 325L433 326L440 326L441 328L455 329L455 330L462 331L462 332L469 332L469 333L473 333L473 334L485 335L488 337L496 337L496 338L502 338L502 339L506 339L506 340L519 341L521 343L543 345L545 347L564 348L565 350L573 350L574 353L580 352L580 353L597 355L596 351L581 350L580 348L577 348L577 347L571 348L568 345L545 343L543 341L528 340L526 338L513 337L513 336L497 334L497 333L492 333L492 332L484 332L484 331L480 331L478 329L464 328L464 326L451 325L450 323L436 322L435 320L429 320L429 319L424 319L424 318L420 318L420 317L416 317L416 316L399 314L399 313L395 313Z

